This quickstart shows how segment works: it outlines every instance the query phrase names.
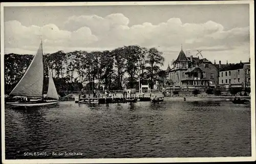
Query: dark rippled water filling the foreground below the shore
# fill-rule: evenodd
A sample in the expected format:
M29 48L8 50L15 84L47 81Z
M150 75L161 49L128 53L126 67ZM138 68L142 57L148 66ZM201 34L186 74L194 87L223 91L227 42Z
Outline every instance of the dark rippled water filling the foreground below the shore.
M5 114L6 159L251 156L250 105L60 102Z

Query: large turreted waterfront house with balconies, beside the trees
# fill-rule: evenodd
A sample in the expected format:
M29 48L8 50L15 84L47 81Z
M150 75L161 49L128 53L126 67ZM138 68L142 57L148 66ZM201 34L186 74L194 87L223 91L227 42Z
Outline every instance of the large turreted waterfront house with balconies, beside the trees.
M178 58L166 69L166 86L178 87L181 91L205 90L218 85L218 66L206 58L186 57L181 49Z

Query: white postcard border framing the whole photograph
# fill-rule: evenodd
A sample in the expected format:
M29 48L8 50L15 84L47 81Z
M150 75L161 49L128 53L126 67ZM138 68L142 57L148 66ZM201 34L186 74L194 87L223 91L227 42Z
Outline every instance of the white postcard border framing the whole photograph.
M117 5L210 5L249 4L250 61L251 61L251 156L202 158L102 158L102 159L5 159L5 104L4 104L4 7L13 6L117 6ZM145 163L145 162L222 162L254 161L255 149L255 63L254 63L254 1L195 1L195 2L72 2L72 3L1 3L1 102L2 102L2 162L3 163Z

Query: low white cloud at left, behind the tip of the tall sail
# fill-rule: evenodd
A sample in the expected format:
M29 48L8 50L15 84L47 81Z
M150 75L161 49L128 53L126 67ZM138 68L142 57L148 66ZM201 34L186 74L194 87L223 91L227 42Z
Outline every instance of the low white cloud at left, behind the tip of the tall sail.
M70 32L60 30L55 24L47 24L40 28L35 25L26 27L16 20L5 22L5 48L31 50L39 45L41 37L46 50L47 47L54 46L87 46L97 41L97 37L87 27Z

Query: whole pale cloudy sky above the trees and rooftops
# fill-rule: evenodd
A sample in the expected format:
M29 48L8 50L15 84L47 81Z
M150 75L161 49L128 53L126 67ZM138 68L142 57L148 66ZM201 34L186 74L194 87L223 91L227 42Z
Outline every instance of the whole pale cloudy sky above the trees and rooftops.
M5 53L157 47L165 69L181 49L214 62L249 59L249 5L5 7ZM201 58L201 57L200 57Z

